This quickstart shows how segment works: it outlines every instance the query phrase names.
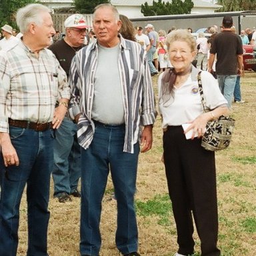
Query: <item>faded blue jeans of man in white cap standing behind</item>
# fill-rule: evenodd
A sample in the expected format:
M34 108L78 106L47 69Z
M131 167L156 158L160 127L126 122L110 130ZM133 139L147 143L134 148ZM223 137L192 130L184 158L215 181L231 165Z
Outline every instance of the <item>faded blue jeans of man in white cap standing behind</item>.
M73 193L81 176L81 147L77 142L77 124L65 117L55 131L53 143L54 196Z

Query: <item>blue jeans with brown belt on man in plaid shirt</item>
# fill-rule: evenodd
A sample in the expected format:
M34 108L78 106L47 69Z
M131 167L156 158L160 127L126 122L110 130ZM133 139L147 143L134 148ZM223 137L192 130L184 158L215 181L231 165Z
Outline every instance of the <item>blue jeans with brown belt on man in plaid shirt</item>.
M11 143L17 151L19 166L5 170L0 199L0 256L15 256L18 246L19 205L27 183L27 256L46 256L51 169L53 167L53 130L34 131L10 127Z

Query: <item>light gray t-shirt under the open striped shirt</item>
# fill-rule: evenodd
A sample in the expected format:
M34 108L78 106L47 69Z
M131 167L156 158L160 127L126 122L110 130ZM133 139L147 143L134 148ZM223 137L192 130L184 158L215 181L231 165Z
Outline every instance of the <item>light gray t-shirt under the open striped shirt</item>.
M111 48L99 45L92 118L109 125L125 123L118 67L119 52L119 44Z

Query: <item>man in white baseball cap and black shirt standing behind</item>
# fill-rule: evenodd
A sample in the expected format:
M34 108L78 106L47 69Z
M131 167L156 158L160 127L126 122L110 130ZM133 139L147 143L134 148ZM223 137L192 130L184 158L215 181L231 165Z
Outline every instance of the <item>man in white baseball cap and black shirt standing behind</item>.
M65 22L65 38L53 43L48 49L53 51L61 67L69 77L71 60L85 44L85 18L81 14L69 16ZM68 135L68 136L67 136ZM80 146L77 142L77 124L65 116L59 129L55 131L53 143L53 183L55 197L60 203L80 197L77 190L80 171Z

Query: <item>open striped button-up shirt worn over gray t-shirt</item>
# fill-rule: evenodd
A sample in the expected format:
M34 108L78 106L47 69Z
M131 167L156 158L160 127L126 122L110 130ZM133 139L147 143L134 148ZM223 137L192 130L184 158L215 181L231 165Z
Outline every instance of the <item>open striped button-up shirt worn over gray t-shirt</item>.
M119 35L120 53L119 73L125 110L125 143L123 151L133 153L133 145L140 136L140 125L155 122L155 99L151 75L145 51L133 41ZM71 86L71 118L81 113L78 122L77 137L79 144L87 149L93 140L95 125L91 119L94 96L95 71L97 68L97 42L81 49L74 57L69 72ZM111 59L107 66L111 65ZM113 115L115 110L113 110Z

